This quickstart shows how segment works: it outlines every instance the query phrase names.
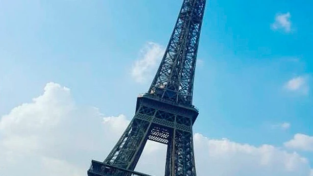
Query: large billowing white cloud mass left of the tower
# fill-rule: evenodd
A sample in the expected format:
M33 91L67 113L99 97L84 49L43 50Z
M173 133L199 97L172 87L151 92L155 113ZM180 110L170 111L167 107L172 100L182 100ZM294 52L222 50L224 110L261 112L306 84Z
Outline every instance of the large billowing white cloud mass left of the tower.
M113 130L107 119L97 108L77 106L68 88L48 83L43 95L1 117L0 174L85 176L90 160L103 159L125 127Z

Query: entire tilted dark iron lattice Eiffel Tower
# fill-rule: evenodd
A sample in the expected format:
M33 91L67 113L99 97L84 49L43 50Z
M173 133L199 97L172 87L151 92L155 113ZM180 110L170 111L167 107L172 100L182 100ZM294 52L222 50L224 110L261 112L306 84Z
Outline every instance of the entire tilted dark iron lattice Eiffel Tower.
M104 162L92 160L88 176L149 176L134 169L147 140L167 145L165 176L196 176L192 125L193 82L206 0L183 0L152 84L137 98L129 126Z

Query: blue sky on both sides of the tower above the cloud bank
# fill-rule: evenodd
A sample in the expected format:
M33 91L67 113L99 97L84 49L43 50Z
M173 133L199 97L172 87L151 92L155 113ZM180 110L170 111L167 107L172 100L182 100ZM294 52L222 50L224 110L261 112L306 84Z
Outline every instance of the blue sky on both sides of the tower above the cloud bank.
M79 105L130 119L181 3L0 1L0 117L31 102L52 81L70 88ZM208 1L195 78L200 115L194 132L269 144L313 161L311 6L309 0ZM156 64L146 65L146 80L138 82L131 74L146 57ZM297 133L306 135L305 144L284 145Z

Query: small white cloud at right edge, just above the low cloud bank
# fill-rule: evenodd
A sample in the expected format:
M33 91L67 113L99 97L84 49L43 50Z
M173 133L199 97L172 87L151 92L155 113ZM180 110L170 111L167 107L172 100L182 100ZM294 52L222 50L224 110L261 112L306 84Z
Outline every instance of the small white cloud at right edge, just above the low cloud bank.
M290 149L313 151L313 136L298 133L293 136L293 139L287 141L284 145Z

